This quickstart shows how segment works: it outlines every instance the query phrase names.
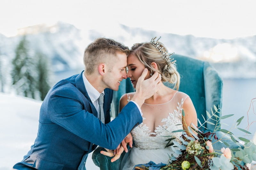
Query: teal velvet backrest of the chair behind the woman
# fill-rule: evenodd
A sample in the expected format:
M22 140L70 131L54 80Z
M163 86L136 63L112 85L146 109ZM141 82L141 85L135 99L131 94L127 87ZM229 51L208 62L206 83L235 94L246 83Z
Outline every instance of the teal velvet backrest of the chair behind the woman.
M206 110L211 114L211 108L213 108L213 105L216 107L219 106L220 108L222 106L222 79L208 62L181 55L172 56L177 61L177 70L181 77L179 91L185 92L189 95L196 108L197 117L200 122L203 123L204 118L208 118ZM165 85L171 86L168 84ZM121 82L119 90L114 92L111 109L112 117L115 118L118 114L118 104L121 96L124 93L133 91L134 88L132 87L129 78ZM217 115L220 116L219 113L217 113ZM209 122L214 124L216 123L211 119ZM215 125L206 123L205 127L210 131L213 131Z

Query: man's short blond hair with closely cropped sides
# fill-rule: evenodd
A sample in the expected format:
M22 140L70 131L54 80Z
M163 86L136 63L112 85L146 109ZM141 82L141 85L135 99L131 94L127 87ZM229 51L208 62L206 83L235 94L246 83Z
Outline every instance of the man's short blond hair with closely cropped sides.
M84 66L86 74L92 74L99 63L115 63L117 52L128 55L130 50L122 43L108 38L98 38L84 50Z

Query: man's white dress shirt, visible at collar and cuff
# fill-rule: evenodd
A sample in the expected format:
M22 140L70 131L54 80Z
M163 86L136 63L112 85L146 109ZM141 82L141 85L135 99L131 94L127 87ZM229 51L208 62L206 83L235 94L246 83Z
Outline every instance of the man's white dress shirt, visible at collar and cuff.
M83 73L83 81L84 81L84 86L85 86L86 91L87 91L87 93L88 93L88 95L89 95L89 97L92 101L93 106L95 107L97 112L100 113L100 107L99 107L98 99L99 99L101 93L98 92L98 90L96 90L91 85L91 83L85 77L84 73ZM102 93L104 94L104 91ZM131 100L131 102L133 102L138 107L138 109L140 110L140 115L142 116L142 112L141 112L141 109L140 109L139 105L133 100ZM98 114L98 118L99 118L99 114Z

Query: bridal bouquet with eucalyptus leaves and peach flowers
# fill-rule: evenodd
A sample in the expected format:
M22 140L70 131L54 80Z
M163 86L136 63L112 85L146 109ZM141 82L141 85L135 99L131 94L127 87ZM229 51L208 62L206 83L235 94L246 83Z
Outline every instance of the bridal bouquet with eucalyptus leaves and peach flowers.
M204 118L204 123L200 121L199 127L191 124L188 126L188 131L184 129L175 130L170 132L182 132L182 136L178 139L180 142L176 142L173 139L175 137L168 136L170 139L167 139L168 142L166 147L171 147L174 154L169 155L169 162L165 166L161 166L160 170L187 170L187 169L211 169L211 170L231 170L231 169L249 169L244 163L252 163L252 161L256 161L256 145L252 143L250 140L244 137L235 137L232 132L226 129L221 129L220 120L226 119L233 115L225 115L219 117L216 113L220 113L220 108L216 106L213 107L213 110L210 114L206 112L207 118ZM182 112L183 117L185 116L184 111ZM239 118L236 121L235 128L240 124L243 120L244 116ZM209 120L214 120L216 123L209 122ZM202 128L206 129L205 124L210 123L215 125L213 132L204 133ZM245 134L251 134L249 131L241 128L237 128L241 130ZM223 132L222 137L217 137L218 131ZM189 132L189 133L188 133ZM188 136L187 134L191 134ZM227 137L229 137L229 142ZM230 141L232 144L232 148L230 147ZM240 142L239 142L240 141ZM223 147L219 150L215 150L215 143L222 143ZM236 147L234 147L234 145ZM175 157L175 155L179 155ZM243 161L243 162L242 162ZM241 165L242 164L242 165ZM146 166L136 166L135 169L146 170L148 167Z

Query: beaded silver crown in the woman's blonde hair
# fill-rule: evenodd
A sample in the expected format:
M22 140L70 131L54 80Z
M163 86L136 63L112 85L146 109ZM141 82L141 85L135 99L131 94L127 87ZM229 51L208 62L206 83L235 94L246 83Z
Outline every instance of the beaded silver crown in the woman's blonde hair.
M173 61L174 58L170 58L172 54L168 54L168 51L164 50L164 47L161 46L161 43L158 42L158 40L161 38L161 36L156 40L156 37L153 37L150 41L150 43L156 47L156 49L158 49L158 51L163 55L164 59L166 60L168 67L170 67L170 65L172 65L173 63L176 62L176 60ZM156 41L155 41L156 40Z

